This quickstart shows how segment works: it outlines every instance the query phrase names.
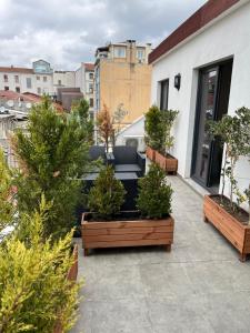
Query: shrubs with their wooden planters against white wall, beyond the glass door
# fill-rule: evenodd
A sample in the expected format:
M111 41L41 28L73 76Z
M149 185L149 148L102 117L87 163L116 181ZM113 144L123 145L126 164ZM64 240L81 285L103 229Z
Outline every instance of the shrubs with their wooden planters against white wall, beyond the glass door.
M177 173L178 160L170 154L174 142L171 129L178 113L176 110L161 111L154 105L146 114L147 157L172 174Z

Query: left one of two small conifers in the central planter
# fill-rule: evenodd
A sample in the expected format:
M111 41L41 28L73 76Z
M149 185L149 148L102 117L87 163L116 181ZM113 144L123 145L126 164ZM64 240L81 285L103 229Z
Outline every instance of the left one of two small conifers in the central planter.
M97 212L102 219L110 219L119 213L124 202L126 190L121 181L114 178L112 165L108 165L100 171L89 192L88 205L92 212Z

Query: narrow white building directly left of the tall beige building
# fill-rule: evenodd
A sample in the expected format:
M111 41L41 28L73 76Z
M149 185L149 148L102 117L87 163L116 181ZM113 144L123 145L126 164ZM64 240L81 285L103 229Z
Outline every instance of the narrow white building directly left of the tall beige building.
M93 112L94 101L94 64L88 62L81 62L81 65L76 71L76 87L80 88L84 98L90 105L90 112Z

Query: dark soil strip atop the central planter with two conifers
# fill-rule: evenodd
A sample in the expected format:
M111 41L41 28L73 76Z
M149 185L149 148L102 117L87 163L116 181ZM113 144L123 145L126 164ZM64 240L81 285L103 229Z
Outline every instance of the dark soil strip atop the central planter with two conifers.
M170 215L162 216L168 219ZM88 222L116 222L116 221L138 221L138 220L152 220L141 215L140 211L122 211L119 214L112 216L110 220L104 220L98 216L96 213L86 213L86 220ZM158 221L159 219L156 219Z

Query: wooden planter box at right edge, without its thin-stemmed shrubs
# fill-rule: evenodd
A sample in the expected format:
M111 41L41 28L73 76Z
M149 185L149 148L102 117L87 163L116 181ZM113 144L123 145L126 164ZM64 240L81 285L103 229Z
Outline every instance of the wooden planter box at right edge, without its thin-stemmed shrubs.
M246 261L250 253L250 226L243 225L222 206L212 200L213 195L204 195L204 222L212 223L228 241L240 252L240 261Z

